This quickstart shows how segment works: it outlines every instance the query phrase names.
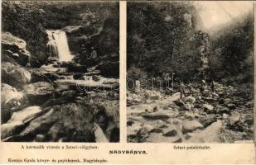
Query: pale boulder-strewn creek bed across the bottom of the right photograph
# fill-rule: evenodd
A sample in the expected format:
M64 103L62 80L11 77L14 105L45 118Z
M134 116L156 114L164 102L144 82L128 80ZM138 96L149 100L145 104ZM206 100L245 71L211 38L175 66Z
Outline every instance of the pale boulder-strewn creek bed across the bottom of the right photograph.
M129 92L128 142L253 143L253 99L231 86L215 88L200 92L190 84L183 98L180 92Z

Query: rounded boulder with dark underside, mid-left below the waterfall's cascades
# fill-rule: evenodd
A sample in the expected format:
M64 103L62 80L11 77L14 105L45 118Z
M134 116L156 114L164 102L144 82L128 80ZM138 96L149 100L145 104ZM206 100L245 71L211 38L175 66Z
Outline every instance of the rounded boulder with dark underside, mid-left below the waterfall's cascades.
M24 93L32 104L41 105L51 99L54 87L49 82L35 82L24 87Z

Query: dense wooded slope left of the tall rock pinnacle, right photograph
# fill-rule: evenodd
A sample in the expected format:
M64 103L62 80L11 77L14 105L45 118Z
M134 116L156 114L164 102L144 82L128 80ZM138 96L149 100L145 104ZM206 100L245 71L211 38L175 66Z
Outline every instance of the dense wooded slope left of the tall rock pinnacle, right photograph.
M190 2L128 3L128 68L192 78L198 68L196 16Z

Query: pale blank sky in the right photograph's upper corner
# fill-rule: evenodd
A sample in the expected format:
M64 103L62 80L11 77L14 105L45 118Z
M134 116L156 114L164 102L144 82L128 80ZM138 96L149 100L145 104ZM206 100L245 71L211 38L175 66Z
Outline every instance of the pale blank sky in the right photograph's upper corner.
M194 3L199 9L201 21L206 30L254 10L254 2L205 1Z

